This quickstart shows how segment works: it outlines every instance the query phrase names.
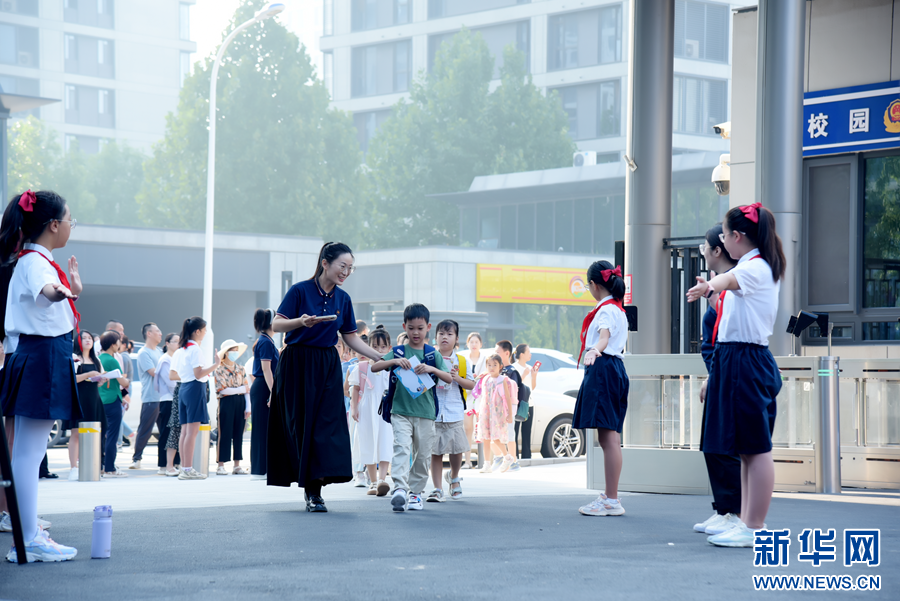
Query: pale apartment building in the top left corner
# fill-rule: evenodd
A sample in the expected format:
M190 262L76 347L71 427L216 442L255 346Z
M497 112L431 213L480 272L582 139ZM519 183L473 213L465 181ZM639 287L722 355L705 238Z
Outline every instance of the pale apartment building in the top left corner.
M0 88L60 100L33 113L89 153L148 150L190 71L196 0L0 0Z

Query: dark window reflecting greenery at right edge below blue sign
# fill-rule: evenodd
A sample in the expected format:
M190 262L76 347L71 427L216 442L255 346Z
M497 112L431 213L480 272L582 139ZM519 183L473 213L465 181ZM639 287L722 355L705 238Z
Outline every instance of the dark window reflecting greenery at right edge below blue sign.
M863 307L865 308L900 308L900 226L896 217L900 214L898 180L900 180L900 156L865 160L863 193ZM888 332L880 324L864 324L863 338L867 340L886 339L866 338L867 331Z

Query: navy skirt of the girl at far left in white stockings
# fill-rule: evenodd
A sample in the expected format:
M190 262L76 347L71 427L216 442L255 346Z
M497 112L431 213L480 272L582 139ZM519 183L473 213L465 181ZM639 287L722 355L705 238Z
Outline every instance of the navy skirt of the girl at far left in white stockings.
M81 419L71 332L19 336L19 346L0 370L0 406L6 417Z

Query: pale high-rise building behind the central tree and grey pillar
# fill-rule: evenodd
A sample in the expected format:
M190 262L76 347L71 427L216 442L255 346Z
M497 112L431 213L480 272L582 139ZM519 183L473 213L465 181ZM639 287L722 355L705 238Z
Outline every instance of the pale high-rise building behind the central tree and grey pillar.
M675 2L676 153L727 152L712 125L730 118L730 13L739 4ZM627 0L323 0L325 81L334 105L353 113L365 150L413 78L465 26L484 37L498 75L505 46L523 51L535 85L557 92L578 147L618 161L628 11Z

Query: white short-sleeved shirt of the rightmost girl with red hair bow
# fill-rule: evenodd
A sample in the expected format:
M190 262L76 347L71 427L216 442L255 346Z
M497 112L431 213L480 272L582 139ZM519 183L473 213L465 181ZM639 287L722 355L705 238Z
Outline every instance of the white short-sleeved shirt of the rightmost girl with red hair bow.
M728 290L722 308L716 342L751 342L769 346L769 336L778 313L781 282L772 278L772 268L754 248L729 271L740 290Z

